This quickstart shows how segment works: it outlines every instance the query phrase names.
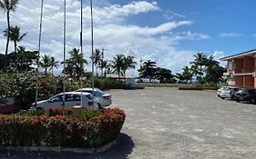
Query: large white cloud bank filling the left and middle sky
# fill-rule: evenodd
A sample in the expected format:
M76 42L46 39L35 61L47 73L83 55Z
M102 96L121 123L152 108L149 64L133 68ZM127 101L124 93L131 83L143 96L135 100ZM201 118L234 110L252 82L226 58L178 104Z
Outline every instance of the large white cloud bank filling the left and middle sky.
M32 3L33 2L33 3ZM94 4L94 42L95 48L105 48L105 57L111 60L114 55L134 55L139 64L139 56L143 60L151 59L157 65L179 72L184 65L189 65L193 59L193 50L179 50L177 45L184 40L205 40L209 35L182 31L181 26L193 25L189 20L170 20L155 26L131 25L128 18L131 15L139 16L150 12L159 12L161 8L157 2L133 1L126 5L112 5L108 0L100 0ZM90 50L90 8L84 5L84 54L87 59ZM43 36L41 55L48 54L63 61L63 1L45 0ZM173 13L173 15L175 15ZM12 13L12 25L21 26L21 32L28 32L20 45L26 49L36 50L38 46L40 4L39 1L24 0ZM176 15L179 16L179 15ZM185 18L185 16L183 17ZM5 22L5 15L0 13L1 28ZM186 29L186 28L184 28ZM169 33L172 33L169 35ZM67 0L67 53L73 48L79 48L80 33L80 5L78 1ZM0 39L0 52L5 51L5 39ZM11 43L12 44L12 43ZM10 48L13 46L10 46ZM68 58L67 54L67 58ZM139 66L139 65L138 65ZM130 75L138 75L137 69L130 70ZM90 70L91 64L86 66ZM59 66L59 70L62 66ZM60 71L57 72L60 72Z

